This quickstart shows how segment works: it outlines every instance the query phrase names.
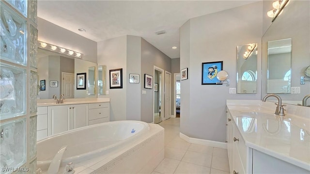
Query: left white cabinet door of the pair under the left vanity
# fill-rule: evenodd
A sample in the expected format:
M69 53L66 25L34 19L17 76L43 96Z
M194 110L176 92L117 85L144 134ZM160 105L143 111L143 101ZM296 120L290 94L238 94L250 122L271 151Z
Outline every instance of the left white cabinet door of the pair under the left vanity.
M71 129L70 105L48 106L48 135Z

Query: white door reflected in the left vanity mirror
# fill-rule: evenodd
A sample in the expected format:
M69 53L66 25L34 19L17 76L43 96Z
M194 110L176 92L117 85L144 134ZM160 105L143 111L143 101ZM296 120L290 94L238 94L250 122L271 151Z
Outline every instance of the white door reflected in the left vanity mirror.
M62 94L65 99L74 98L74 73L62 72Z

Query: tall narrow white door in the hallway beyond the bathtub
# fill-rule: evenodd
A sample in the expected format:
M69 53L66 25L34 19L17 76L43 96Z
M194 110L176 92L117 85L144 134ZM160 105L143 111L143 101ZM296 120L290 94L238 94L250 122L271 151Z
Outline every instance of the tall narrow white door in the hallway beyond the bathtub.
M171 116L171 73L165 73L165 119Z

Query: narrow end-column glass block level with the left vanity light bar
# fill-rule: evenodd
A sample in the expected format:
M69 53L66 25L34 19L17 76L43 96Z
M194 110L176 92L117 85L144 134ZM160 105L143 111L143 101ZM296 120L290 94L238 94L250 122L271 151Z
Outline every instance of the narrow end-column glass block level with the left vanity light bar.
M38 30L30 25L30 66L37 69Z

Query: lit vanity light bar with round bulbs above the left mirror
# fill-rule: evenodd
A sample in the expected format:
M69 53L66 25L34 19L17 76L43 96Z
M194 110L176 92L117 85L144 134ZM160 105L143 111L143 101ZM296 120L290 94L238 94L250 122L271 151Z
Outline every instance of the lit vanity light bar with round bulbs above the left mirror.
M56 53L59 53L62 55L72 56L75 58L82 58L82 56L83 56L82 53L79 53L77 51L69 50L66 48L56 46L54 44L45 43L45 42L41 42L41 41L38 41L38 48L48 50L48 51L52 51L52 52L56 52Z

